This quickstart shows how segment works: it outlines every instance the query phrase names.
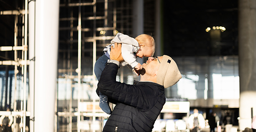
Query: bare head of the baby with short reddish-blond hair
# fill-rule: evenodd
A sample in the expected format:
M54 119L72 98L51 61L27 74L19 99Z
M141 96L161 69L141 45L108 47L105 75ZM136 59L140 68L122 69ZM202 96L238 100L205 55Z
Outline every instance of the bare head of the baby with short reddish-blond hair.
M139 50L136 56L139 58L151 57L155 53L155 40L152 36L142 34L135 38L139 43Z

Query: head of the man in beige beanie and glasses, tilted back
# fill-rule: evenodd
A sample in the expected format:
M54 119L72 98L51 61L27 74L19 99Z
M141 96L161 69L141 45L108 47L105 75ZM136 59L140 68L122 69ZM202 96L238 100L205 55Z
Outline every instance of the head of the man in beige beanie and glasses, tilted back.
M140 73L142 81L153 81L167 88L181 79L177 64L169 56L149 57L142 67L143 70Z

